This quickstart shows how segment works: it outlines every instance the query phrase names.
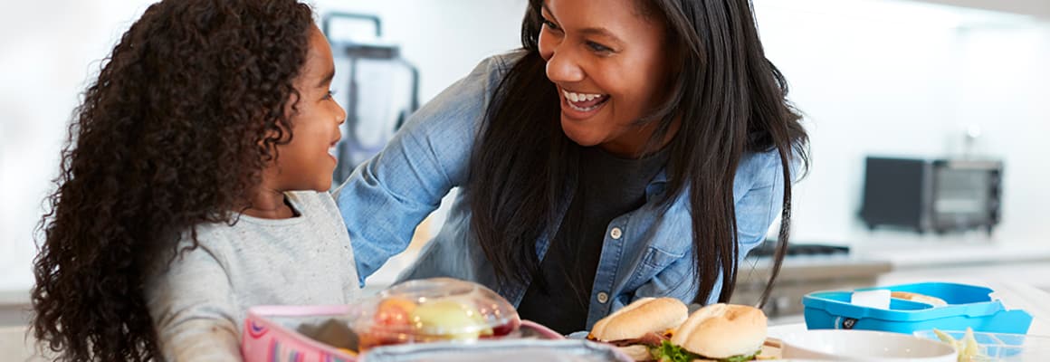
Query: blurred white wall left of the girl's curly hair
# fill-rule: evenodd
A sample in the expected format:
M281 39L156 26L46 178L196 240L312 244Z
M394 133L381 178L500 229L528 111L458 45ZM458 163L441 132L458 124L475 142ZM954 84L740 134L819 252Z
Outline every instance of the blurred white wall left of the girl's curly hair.
M33 230L89 72L143 0L0 5L0 291L27 289Z

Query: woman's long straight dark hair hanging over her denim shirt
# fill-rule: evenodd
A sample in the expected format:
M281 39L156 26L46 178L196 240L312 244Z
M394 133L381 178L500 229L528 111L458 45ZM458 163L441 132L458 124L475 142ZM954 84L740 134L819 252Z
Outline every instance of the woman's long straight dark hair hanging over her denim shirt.
M536 275L536 242L558 228L552 217L573 178L566 175L576 168L576 147L560 127L559 97L539 52L542 4L529 1L524 57L500 84L470 164L471 228L501 282L523 283ZM780 155L783 208L763 304L789 241L796 176L789 165L801 161L802 169L808 168L808 139L785 99L786 82L765 59L750 1L645 0L637 10L666 24L668 44L680 55L670 100L638 122L657 122L651 151L666 140L673 120L681 120L667 146L669 184L660 201L689 193L695 301L716 292L719 275L724 277L719 300L733 294L739 255L733 182L741 156L772 150Z

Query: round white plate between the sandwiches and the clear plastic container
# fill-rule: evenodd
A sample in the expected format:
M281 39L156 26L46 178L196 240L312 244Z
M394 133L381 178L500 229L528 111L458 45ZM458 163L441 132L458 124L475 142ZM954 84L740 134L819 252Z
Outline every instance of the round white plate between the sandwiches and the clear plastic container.
M784 359L954 362L951 345L915 336L856 329L814 329L783 335Z

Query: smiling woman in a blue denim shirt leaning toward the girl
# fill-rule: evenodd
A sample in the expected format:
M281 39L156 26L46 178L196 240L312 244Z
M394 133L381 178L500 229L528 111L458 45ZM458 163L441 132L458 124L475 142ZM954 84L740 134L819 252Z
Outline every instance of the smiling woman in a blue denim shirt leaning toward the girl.
M361 278L453 187L402 278L478 281L562 333L640 297L729 300L781 212L779 267L784 180L807 137L749 1L531 0L522 45L420 109L343 186Z

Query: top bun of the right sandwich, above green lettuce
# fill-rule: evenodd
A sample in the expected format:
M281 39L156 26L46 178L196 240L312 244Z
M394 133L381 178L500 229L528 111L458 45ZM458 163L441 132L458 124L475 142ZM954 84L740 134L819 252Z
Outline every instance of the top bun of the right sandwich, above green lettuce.
M671 343L714 359L752 355L763 342L765 314L761 310L723 303L693 312L671 337Z

